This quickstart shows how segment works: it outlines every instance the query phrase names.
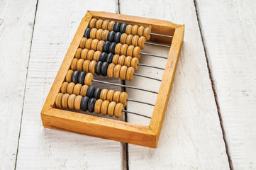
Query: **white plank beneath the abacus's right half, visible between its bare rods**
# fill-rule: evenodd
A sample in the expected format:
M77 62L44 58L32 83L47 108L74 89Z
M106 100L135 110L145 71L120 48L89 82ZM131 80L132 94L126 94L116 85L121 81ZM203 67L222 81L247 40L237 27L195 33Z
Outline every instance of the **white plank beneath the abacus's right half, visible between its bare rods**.
M128 145L130 169L229 169L194 1L120 1L122 14L164 19L185 24L184 45L177 66L157 149ZM168 55L164 47L147 45L144 52ZM165 67L165 60L149 56L140 62ZM140 67L140 74L162 77L162 71ZM157 89L160 83L136 77L129 85ZM130 98L155 102L155 95L127 90ZM128 109L142 114L148 106L130 102ZM128 115L128 121L149 124Z

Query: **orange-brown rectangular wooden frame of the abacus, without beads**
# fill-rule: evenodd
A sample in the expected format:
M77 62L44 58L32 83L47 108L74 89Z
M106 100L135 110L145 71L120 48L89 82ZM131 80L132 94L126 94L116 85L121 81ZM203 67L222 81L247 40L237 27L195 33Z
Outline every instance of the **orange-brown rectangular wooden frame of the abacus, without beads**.
M138 26L150 26L152 33L173 36L173 38L167 38L152 35L150 38L150 41L162 44L170 44L172 42L172 45L169 50L165 72L162 77L160 90L157 95L157 101L149 126L127 123L109 118L100 118L93 115L55 108L55 98L60 91L62 82L65 80L67 70L74 58L77 47L79 47L79 42L84 35L84 30L89 26L91 18L121 21L124 23L137 24ZM165 117L169 94L172 89L172 82L179 60L179 54L182 50L183 38L184 26L176 25L169 21L126 16L116 13L87 11L87 14L82 18L77 33L74 35L67 51L67 55L62 62L57 77L48 94L48 98L45 101L45 105L43 106L41 117L44 127L156 148L162 128L162 122Z

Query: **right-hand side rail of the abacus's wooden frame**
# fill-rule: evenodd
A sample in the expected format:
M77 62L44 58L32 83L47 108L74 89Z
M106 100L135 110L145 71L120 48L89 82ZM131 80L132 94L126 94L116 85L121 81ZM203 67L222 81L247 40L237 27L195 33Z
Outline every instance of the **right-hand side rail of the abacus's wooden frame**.
M179 54L182 50L183 39L184 26L179 26L175 29L174 38L172 40L172 45L170 47L165 66L165 72L162 76L162 83L160 85L157 101L150 120L150 129L157 135L157 142L162 128L162 122L165 118L165 111L169 101L169 94L172 89L172 82L174 80L177 63L179 61Z

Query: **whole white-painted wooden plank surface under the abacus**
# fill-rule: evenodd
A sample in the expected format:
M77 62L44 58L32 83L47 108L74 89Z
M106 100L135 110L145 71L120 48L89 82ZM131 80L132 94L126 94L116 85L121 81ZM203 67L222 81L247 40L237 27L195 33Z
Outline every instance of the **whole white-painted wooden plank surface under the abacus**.
M254 0L0 1L0 169L256 169L255 8ZM40 110L87 10L185 25L157 149L43 128Z

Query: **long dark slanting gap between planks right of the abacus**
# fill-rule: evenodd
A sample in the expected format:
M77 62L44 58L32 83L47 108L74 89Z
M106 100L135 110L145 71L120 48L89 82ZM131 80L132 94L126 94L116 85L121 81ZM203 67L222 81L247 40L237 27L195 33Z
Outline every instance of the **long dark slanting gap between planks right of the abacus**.
M207 55L208 53L207 53L207 50L206 50L206 45L205 45L205 40L204 40L204 33L202 33L202 30L201 30L201 22L200 22L200 18L199 18L199 14L198 14L197 0L194 0L194 6L195 6L195 9L196 9L196 18L197 18L197 22L198 22L198 25L199 25L201 40L203 42L204 55L206 57L206 63L207 63L209 78L211 80L211 88L213 90L214 100L215 100L217 111L218 111L218 118L220 120L221 131L222 131L222 135L223 135L223 141L224 141L225 147L226 147L226 153L227 153L227 157L228 157L228 164L229 164L230 170L233 170L233 163L232 163L232 159L230 157L230 151L229 151L229 148L228 148L228 142L226 141L226 132L225 132L225 129L224 129L224 126L223 126L222 117L221 117L221 108L218 105L218 96L217 96L216 87L215 87L215 84L214 84L214 81L213 81L213 74L211 72L211 67L209 66L209 62L208 62L208 55Z

